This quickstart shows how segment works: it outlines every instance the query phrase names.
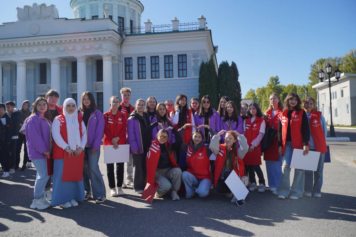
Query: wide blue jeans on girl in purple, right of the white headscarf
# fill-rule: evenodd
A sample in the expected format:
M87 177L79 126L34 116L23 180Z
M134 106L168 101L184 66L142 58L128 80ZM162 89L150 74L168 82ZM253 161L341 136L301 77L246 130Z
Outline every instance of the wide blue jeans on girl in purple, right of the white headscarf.
M84 190L89 194L91 190L93 198L106 196L104 179L98 165L100 150L91 155L91 148L85 148L85 156L87 159L84 160L83 166Z

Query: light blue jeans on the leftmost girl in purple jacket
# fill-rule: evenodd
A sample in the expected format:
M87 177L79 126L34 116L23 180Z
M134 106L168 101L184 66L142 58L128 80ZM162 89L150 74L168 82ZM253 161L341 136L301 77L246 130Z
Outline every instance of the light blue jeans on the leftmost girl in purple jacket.
M50 177L47 175L47 161L46 159L33 159L32 164L37 171L33 197L40 199L45 192L46 183Z

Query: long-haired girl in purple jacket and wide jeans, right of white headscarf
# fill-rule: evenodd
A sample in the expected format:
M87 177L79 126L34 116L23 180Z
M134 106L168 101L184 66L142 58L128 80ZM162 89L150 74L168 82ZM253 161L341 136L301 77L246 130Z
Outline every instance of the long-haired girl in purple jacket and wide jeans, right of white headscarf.
M82 94L80 111L83 114L83 122L87 128L87 146L84 149L83 182L85 198L95 198L95 203L106 200L106 190L103 176L99 169L100 144L104 132L104 117L96 106L93 94L85 91Z

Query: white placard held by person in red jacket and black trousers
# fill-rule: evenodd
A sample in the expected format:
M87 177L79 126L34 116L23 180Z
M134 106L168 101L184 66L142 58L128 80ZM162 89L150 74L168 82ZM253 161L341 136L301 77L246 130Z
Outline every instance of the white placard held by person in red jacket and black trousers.
M112 145L104 146L104 164L129 162L130 145L119 145L116 150Z

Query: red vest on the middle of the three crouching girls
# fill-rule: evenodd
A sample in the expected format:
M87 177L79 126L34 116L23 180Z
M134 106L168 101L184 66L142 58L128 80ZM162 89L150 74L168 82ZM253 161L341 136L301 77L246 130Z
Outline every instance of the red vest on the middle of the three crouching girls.
M210 160L206 152L206 146L199 148L195 154L193 148L188 145L187 150L187 171L195 176L197 179L213 180L213 174L210 170Z

